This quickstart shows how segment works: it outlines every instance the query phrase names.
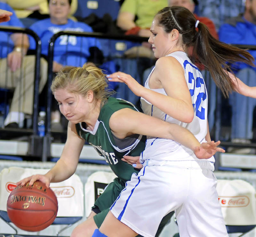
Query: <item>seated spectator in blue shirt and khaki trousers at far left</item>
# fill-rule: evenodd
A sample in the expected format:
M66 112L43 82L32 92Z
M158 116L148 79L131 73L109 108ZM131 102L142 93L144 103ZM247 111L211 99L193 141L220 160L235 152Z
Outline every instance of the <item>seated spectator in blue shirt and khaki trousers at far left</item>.
M0 2L0 9L12 12L10 20L0 23L0 26L23 27L8 4ZM35 56L26 56L28 47L26 34L0 31L0 87L15 88L5 127L22 127L25 114L32 115L33 112ZM47 80L47 63L42 59L40 64L39 92Z

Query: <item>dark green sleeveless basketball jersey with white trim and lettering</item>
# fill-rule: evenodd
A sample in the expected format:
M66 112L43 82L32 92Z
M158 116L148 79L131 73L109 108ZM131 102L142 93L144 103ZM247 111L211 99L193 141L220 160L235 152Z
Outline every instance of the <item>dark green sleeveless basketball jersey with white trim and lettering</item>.
M139 170L122 161L121 158L124 155L139 156L145 148L146 136L136 135L133 138L114 138L109 128L109 119L113 113L123 108L131 108L138 111L128 101L109 97L108 102L100 110L100 115L93 131L86 130L84 122L76 124L76 131L79 136L94 147L100 156L105 158L116 176L126 182L131 179L132 173L138 173Z

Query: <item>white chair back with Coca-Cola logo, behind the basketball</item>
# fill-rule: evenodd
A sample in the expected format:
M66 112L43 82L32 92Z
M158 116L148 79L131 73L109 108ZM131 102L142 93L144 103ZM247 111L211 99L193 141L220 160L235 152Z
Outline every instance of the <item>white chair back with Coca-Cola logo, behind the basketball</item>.
M47 171L48 169L21 167L3 169L0 173L0 210L6 211L8 196L17 186L17 181L33 174L45 174ZM57 217L84 216L84 187L76 174L63 182L51 183L50 187L58 199Z

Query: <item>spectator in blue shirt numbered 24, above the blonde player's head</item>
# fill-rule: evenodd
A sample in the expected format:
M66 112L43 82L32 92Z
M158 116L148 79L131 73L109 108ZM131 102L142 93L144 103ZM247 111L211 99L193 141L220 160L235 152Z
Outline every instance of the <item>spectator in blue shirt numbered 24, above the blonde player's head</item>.
M71 0L48 0L50 18L36 21L30 29L36 32L42 41L42 54L48 56L51 37L59 31L92 32L87 24L68 18L71 10ZM30 48L35 49L35 41L30 38ZM53 73L57 73L63 66L82 67L91 56L91 49L100 49L100 43L92 37L77 37L62 35L54 43ZM60 113L58 107L52 107L52 129L62 130L60 127Z

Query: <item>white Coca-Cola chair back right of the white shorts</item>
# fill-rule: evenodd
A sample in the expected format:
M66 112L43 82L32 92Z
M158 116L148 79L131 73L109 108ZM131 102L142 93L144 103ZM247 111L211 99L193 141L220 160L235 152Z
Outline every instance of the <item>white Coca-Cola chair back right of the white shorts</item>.
M216 189L226 225L256 224L256 192L250 183L219 179Z

